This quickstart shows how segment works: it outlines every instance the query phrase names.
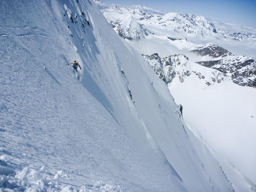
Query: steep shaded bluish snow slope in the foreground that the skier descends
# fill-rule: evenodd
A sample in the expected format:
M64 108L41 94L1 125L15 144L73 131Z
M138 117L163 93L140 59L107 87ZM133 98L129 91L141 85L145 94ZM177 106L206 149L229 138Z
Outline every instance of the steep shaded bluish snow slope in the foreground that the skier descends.
M232 191L216 162L202 167L166 84L93 2L0 7L1 190Z

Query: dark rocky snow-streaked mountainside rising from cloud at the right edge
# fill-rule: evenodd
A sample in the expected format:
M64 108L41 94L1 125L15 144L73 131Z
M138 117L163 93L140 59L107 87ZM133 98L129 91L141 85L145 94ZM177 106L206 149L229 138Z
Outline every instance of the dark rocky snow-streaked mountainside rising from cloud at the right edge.
M256 62L252 58L246 57L245 55L237 56L213 44L206 44L191 52L195 52L201 56L212 56L213 59L217 59L196 62L199 65L227 74L236 84L256 88Z

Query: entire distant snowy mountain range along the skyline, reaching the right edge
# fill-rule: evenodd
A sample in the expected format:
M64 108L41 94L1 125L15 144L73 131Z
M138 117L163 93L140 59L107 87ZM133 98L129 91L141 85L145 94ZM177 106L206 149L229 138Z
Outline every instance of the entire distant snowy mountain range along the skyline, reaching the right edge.
M145 25L199 36L211 36L218 34L224 37L231 37L238 40L256 40L256 36L252 33L230 32L217 29L213 23L206 20L203 16L197 14L178 14L176 12L164 13L140 5L113 6L113 4L102 4L102 1L100 1L101 3L98 2L99 1L96 1L96 3L101 8L101 12L103 12L109 23L113 23L114 21L119 24L119 28L126 28L126 30L133 31L133 33L136 33L136 29L139 33L146 30L142 27L142 25ZM120 21L131 17L134 19L133 22L137 23L137 28L129 28L129 25L127 25L125 22L120 23ZM135 24L133 24L133 26L135 26ZM112 27L116 28L116 25L113 25ZM119 34L119 31L116 31ZM147 33L148 31L146 34ZM142 37L144 36L142 35ZM126 37L124 36L124 38ZM132 39L133 38L130 40ZM135 39L138 40L139 38Z

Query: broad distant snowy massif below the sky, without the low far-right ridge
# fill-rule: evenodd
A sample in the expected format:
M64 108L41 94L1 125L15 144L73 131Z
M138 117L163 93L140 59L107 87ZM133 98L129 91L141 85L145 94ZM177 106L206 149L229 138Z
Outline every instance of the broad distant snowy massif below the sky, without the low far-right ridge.
M141 25L152 25L159 26L160 28L167 30L173 30L175 32L182 31L186 34L199 34L202 36L211 34L211 32L217 33L216 28L212 23L207 21L204 17L196 14L167 13L160 15L158 13L147 13L139 6L132 6L131 8L119 6L109 7L102 9L102 12L110 24L118 22L121 28L128 28L125 22L120 23L121 20L131 17L134 18L133 22L136 22L139 26L137 28L132 27L127 29L129 31L137 30L140 32L143 31ZM115 28L116 26L114 25L112 27Z

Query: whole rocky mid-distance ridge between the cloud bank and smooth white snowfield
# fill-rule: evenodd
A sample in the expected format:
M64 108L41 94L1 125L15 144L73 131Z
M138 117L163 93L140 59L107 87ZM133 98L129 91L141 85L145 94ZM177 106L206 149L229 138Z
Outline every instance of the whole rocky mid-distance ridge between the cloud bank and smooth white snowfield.
M215 70L206 74L203 72L202 74L200 67L189 61L185 55L171 55L162 59L157 53L143 56L159 78L166 84L171 83L176 76L183 83L186 76L194 73L199 79L204 79L205 84L208 86L215 82L220 83L223 80L230 81L232 79L236 84L256 88L256 62L252 58L244 55L236 56L228 50L213 44L206 44L191 52L196 52L201 56L212 56L216 60L196 63L207 68L216 69L222 73Z

